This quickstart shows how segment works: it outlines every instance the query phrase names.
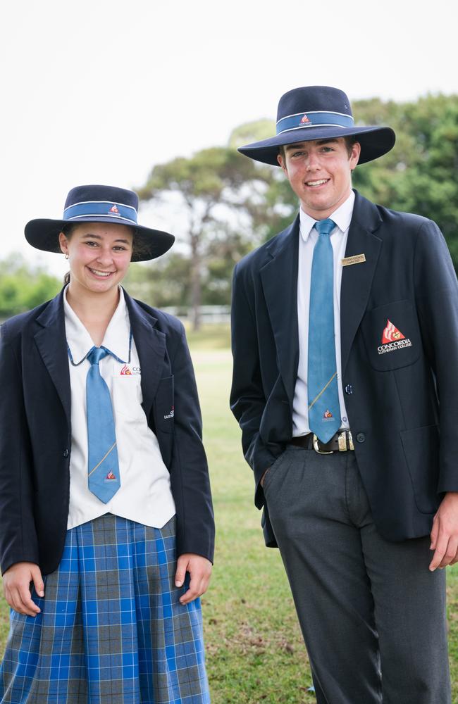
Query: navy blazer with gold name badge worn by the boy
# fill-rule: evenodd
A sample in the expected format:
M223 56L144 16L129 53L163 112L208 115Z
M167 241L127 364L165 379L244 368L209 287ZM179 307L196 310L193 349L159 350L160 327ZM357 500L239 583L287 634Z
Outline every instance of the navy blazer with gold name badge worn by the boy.
M292 434L299 359L299 216L249 253L233 278L231 408L259 484ZM458 284L431 220L356 193L340 292L342 386L357 463L380 534L424 536L445 491L458 491ZM387 348L387 320L404 335ZM275 537L264 507L264 534Z

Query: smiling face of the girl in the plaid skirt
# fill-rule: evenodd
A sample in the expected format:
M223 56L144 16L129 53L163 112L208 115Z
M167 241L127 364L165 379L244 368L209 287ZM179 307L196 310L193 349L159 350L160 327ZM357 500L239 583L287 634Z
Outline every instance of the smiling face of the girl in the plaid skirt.
M132 257L132 228L108 222L80 222L59 235L68 254L73 296L117 293Z

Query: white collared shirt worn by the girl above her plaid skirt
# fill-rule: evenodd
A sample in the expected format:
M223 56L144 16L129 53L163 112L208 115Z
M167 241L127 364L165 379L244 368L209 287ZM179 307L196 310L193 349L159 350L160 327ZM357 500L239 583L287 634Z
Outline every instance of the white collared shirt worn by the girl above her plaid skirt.
M94 342L70 307L66 291L63 296L70 351L68 364L72 409L68 528L74 528L104 513L113 513L137 523L161 528L175 515L170 475L163 463L157 438L148 427L141 406L140 361L130 334L128 308L120 287L119 294L118 307L106 329L102 346L123 361L108 355L99 364L101 376L111 394L120 472L120 489L108 503L100 501L87 486L86 377L90 363L86 356L94 347Z

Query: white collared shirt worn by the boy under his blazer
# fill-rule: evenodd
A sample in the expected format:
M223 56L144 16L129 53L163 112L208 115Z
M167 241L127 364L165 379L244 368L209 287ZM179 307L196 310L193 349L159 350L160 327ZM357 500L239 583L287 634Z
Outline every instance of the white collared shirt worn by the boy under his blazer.
M354 192L348 196L345 203L329 217L336 227L330 235L334 253L334 332L335 332L335 363L337 367L341 428L349 428L347 410L342 389L342 360L340 358L340 284L342 283L342 259L345 257L349 225L352 220ZM305 435L309 428L309 399L307 396L307 368L309 357L309 303L311 263L314 256L314 246L318 232L314 225L316 220L310 215L299 211L299 268L297 277L297 320L299 321L299 366L295 396L292 402L292 435Z

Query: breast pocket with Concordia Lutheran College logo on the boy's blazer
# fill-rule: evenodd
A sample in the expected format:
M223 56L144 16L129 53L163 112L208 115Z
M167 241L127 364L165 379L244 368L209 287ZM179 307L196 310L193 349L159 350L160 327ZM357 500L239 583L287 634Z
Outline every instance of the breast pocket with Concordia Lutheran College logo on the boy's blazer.
M421 337L411 301L395 301L369 310L361 322L367 357L373 369L388 372L414 364Z

